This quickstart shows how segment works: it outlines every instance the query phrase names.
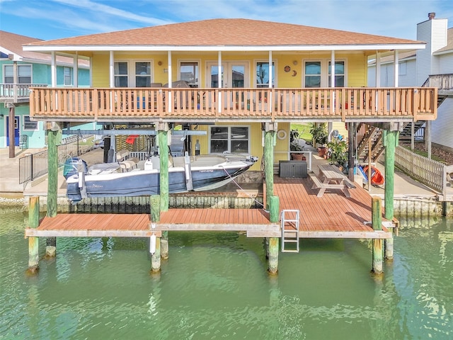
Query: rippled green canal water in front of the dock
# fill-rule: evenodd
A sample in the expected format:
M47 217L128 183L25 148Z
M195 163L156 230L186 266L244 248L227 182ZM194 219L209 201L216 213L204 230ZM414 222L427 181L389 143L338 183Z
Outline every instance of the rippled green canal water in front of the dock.
M304 240L270 278L231 233L171 233L156 276L142 239L57 239L29 277L26 223L0 208L0 339L453 339L451 219L402 221L382 280L366 241Z

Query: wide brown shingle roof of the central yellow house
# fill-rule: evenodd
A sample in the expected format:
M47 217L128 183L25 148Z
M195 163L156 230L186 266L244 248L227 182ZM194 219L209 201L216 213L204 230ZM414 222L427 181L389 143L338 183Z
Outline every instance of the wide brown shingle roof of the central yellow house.
M415 44L415 40L249 19L211 19L35 42L66 46L286 46Z

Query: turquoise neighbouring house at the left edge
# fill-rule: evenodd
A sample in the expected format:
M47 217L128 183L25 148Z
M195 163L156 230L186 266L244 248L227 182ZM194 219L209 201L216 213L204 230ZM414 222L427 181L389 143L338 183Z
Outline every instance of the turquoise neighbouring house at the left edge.
M0 147L9 145L9 113L14 111L14 144L45 147L44 122L30 118L30 86L52 85L52 58L38 52L24 52L22 45L42 40L0 30ZM74 59L59 56L56 62L56 86L90 85L88 60L79 60L74 77ZM93 124L90 124L91 128Z

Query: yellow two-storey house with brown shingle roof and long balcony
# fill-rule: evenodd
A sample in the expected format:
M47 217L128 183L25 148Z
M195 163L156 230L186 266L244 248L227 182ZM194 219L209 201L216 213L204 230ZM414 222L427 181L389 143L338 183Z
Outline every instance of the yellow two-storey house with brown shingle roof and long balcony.
M263 133L275 129L277 162L289 157L293 122L326 122L335 128L434 119L432 89L366 88L367 60L377 50L424 47L414 40L325 28L213 19L39 41L23 49L85 56L91 62L91 89L33 91L37 120L151 128L168 123L206 132L189 140L191 154L196 139L201 154L261 156ZM186 81L178 84L187 88L176 89L175 81ZM404 111L384 104L389 93L398 96L398 103L408 103ZM64 98L58 108L52 105L56 98Z

